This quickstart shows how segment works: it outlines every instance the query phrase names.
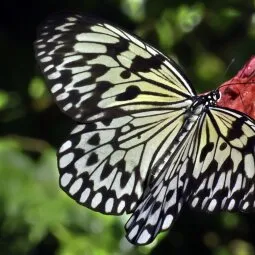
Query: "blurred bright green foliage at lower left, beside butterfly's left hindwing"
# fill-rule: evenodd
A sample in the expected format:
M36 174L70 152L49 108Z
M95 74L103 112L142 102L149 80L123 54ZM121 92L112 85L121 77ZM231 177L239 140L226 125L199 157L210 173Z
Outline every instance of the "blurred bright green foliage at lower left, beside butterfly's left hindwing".
M41 141L32 142L36 147ZM120 218L86 210L60 191L54 150L45 148L33 160L22 151L25 143L31 141L0 140L1 232L15 236L0 249L27 254L51 233L59 255L139 254L123 239Z

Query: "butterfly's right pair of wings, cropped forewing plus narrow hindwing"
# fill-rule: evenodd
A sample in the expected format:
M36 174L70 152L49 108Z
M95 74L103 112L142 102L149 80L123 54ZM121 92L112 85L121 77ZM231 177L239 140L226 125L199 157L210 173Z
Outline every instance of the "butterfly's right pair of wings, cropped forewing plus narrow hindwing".
M147 244L176 220L183 202L202 211L254 211L255 123L211 107L174 149L126 225Z

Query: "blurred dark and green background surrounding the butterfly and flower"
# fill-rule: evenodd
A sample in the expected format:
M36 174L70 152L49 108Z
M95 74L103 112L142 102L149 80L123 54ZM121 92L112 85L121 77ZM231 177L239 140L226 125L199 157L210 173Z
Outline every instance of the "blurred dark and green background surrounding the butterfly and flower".
M254 54L253 1L5 1L0 17L0 254L255 254L255 215L185 208L151 245L124 238L127 216L103 216L58 187L55 148L73 122L53 104L33 42L48 15L79 11L142 37L205 92ZM227 69L232 59L234 63Z

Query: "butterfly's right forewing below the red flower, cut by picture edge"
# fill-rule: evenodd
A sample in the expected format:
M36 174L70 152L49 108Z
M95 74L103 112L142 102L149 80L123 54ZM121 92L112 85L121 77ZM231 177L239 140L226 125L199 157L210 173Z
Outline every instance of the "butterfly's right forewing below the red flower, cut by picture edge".
M201 117L195 140L189 180L191 207L208 212L254 210L254 120L212 107Z

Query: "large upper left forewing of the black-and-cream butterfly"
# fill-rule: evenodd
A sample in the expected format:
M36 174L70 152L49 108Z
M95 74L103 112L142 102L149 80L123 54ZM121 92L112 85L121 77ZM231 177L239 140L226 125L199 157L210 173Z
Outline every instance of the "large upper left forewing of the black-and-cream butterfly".
M120 28L77 14L48 19L35 52L57 105L79 122L187 107L195 95L162 53Z

